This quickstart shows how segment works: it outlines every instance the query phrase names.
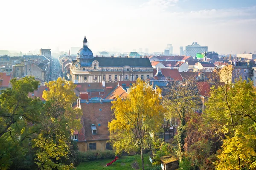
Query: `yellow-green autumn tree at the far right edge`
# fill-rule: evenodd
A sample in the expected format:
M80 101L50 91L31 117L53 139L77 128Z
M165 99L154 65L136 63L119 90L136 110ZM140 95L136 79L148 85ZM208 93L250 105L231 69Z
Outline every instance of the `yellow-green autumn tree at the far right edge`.
M212 89L206 104L207 116L223 137L216 169L255 169L256 90L253 82L241 78L227 82Z

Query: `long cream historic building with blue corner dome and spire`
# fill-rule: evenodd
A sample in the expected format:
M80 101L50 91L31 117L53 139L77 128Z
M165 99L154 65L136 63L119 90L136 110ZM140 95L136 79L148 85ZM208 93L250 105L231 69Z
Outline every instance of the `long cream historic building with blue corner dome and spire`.
M75 83L131 81L153 77L153 67L146 57L93 57L84 37L83 48L70 64L69 77Z

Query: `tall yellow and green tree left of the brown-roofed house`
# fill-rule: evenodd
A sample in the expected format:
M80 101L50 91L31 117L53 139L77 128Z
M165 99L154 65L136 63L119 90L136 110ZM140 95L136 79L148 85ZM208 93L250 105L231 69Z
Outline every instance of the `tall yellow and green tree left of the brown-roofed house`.
M68 170L73 162L68 161L71 146L70 136L73 130L80 128L81 109L73 109L76 101L73 82L60 77L57 81L46 83L49 91L43 92L46 100L44 118L41 120L41 132L34 140L36 164L40 169Z

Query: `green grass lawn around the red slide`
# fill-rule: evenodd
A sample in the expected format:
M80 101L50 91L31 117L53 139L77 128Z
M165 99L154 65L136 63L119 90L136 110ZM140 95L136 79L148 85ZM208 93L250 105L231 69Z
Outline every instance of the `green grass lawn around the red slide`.
M107 163L111 162L113 159L97 159L95 161L86 161L79 164L78 167L76 167L77 170L132 170L131 164L134 163L136 160L139 164L140 169L142 169L141 166L141 159L140 156L134 155L134 156L122 156L119 157L119 160L116 160L108 167L106 166ZM145 168L150 166L151 163L149 161L149 153L144 155L144 164Z

